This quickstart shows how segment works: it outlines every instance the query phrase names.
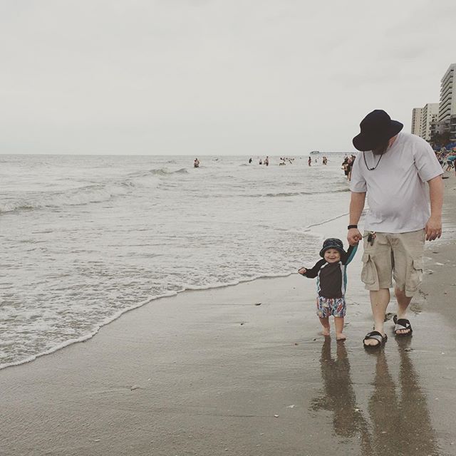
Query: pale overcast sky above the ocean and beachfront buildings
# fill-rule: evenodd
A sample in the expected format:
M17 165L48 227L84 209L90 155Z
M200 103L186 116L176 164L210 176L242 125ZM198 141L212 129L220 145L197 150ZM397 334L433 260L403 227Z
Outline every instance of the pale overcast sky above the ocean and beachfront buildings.
M0 0L0 153L350 151L410 132L456 63L455 0Z

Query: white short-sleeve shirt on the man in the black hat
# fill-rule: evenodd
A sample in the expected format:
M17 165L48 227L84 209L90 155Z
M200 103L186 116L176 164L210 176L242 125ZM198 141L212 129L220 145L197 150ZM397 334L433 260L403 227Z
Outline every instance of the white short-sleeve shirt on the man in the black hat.
M419 136L400 132L379 158L371 151L359 152L351 172L350 190L367 192L364 228L386 233L423 229L430 217L425 182L442 174L432 147Z

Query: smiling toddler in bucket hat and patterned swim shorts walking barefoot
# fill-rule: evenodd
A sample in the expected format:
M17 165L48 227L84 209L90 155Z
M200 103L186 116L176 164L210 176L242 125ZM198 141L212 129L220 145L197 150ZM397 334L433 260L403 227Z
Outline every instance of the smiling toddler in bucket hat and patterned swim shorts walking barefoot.
M323 336L329 336L329 316L334 316L336 338L342 341L343 317L346 314L345 291L347 285L346 266L353 259L358 246L343 249L341 239L330 238L323 242L320 257L323 257L312 269L301 268L299 274L313 279L317 277L316 314L320 318Z

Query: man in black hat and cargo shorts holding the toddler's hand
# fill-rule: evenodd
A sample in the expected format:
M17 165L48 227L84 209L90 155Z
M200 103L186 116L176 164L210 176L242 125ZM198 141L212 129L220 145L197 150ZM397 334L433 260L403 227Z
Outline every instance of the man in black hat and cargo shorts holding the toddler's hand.
M401 132L403 124L383 110L366 115L360 127L361 133L353 138L361 152L351 175L347 239L353 245L364 238L361 280L370 291L374 331L363 345L379 348L387 339L383 321L392 278L398 300L395 336L412 334L406 312L423 278L424 243L442 234L442 167L425 140ZM362 236L358 221L366 193L369 211Z

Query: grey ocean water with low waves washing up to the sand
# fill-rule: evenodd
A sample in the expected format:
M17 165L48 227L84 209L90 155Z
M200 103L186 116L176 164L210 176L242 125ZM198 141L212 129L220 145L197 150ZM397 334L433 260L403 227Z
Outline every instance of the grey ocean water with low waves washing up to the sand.
M313 265L318 225L348 212L342 156L194 158L0 156L0 368L162 296Z

